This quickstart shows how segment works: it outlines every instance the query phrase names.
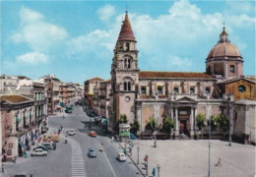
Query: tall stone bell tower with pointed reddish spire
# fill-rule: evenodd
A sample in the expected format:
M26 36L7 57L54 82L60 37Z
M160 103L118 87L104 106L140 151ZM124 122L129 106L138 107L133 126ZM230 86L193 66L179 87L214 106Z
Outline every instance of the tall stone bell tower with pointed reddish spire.
M135 98L139 83L138 50L128 12L113 50L111 65L112 125L117 126L121 114L129 123L135 118Z

